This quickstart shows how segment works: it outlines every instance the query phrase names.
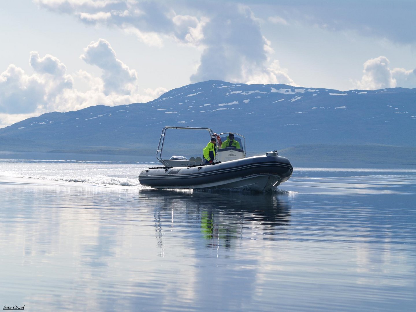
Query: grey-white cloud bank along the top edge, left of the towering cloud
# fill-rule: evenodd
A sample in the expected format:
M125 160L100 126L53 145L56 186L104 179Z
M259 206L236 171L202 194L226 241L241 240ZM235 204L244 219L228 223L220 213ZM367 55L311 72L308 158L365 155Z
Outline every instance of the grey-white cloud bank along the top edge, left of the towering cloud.
M177 15L163 1L34 1L42 8L73 15L85 24L118 27L134 33L148 45L162 45L161 36L175 37L185 43L193 43L200 37L201 21L193 16Z

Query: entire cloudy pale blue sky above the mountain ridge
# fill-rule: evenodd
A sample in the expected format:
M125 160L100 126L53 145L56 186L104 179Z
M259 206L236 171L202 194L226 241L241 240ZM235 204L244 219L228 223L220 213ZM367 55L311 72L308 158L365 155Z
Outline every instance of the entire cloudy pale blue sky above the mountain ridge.
M0 2L0 127L221 79L416 87L416 2Z

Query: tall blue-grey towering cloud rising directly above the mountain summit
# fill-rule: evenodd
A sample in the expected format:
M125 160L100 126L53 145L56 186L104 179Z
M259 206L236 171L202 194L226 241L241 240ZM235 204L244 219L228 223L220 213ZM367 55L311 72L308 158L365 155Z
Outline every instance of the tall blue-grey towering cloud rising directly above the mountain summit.
M274 51L261 33L260 22L247 6L225 5L220 14L206 23L201 43L205 49L191 82L218 79L294 84L280 69L278 61L268 65Z

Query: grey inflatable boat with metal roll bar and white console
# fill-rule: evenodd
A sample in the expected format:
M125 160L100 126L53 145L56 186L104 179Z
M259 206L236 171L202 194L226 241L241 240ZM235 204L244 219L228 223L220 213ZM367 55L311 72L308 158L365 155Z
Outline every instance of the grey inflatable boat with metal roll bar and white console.
M206 141L215 138L215 158L208 163L203 157L171 156L163 159L166 150L167 132L176 130L208 131ZM238 142L232 146L223 143L229 137ZM171 136L169 134L169 136ZM172 136L174 141L175 137ZM193 146L193 153L202 154L205 145L193 143L194 136L186 136L188 147ZM176 142L179 141L176 139ZM228 142L228 141L227 141ZM181 144L176 144L180 147ZM164 150L165 148L165 150ZM199 151L199 152L198 152ZM214 133L209 128L164 127L159 140L156 158L163 166L149 167L141 171L139 181L152 188L214 188L243 189L248 191L268 191L287 181L293 173L290 161L270 151L262 156L245 157L245 138L235 132Z

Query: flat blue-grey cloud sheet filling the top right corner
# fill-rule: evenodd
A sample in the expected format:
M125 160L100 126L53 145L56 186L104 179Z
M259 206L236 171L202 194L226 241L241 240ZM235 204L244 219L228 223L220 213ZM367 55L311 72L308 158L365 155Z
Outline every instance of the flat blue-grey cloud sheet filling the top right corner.
M255 0L245 3L256 5ZM416 43L414 0L299 0L272 3L268 7L271 12L279 12L268 19L275 24L312 25L328 31L354 31L400 44Z

